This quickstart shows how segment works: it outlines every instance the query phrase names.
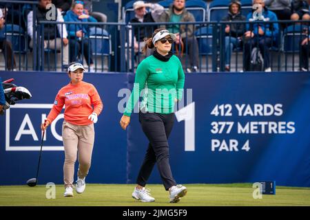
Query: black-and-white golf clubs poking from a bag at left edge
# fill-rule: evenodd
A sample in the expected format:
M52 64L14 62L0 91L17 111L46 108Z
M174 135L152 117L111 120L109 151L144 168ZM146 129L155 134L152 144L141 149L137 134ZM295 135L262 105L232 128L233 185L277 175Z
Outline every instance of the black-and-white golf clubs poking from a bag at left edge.
M14 85L12 81L14 78L10 80L6 80L2 82L2 87L4 91L4 96L6 98L6 104L4 105L3 109L0 111L0 115L3 115L6 109L10 108L10 105L15 104L19 100L23 99L30 99L32 98L30 91L25 87L18 87Z

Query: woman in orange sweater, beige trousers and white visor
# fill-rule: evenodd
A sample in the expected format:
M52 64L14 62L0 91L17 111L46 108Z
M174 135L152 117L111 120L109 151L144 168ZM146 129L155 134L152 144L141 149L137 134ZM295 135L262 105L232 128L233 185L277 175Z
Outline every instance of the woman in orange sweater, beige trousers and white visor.
M63 165L63 181L65 197L73 196L74 163L79 152L79 170L77 173L76 192L85 190L85 177L90 169L92 148L94 146L94 123L103 109L103 103L94 85L83 82L84 67L74 62L68 67L70 83L61 88L55 98L54 105L41 124L44 131L59 115L65 104L65 120L63 121L63 146L65 162Z

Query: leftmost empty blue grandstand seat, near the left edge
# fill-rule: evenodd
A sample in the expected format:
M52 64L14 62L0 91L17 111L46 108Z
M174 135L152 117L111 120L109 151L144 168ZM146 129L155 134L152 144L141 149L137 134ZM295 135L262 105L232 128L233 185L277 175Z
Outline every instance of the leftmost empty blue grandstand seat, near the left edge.
M26 53L25 31L21 26L14 24L6 24L4 27L6 39L12 43L14 53Z

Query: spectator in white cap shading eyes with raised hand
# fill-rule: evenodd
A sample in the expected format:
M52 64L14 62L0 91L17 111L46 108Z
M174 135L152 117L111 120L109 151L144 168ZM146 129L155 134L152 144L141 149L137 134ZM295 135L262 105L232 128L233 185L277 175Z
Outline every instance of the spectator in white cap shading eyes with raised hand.
M156 23L159 21L159 17L165 10L162 5L158 3L145 3L144 1L136 1L133 5L134 8L134 18L130 20L130 23ZM147 8L149 8L149 12L147 12ZM134 56L141 52L143 49L145 42L144 39L146 37L151 37L154 30L158 28L158 25L138 25L133 26L133 30L130 30L129 34L129 42L130 47L132 47L132 34L134 34ZM132 33L133 32L133 33ZM130 48L132 49L132 48ZM145 56L149 56L152 54L152 50L147 50ZM127 53L125 53L127 56ZM139 54L138 54L139 55ZM139 58L138 61L142 60ZM129 59L130 69L132 66L132 57L130 50L130 59Z

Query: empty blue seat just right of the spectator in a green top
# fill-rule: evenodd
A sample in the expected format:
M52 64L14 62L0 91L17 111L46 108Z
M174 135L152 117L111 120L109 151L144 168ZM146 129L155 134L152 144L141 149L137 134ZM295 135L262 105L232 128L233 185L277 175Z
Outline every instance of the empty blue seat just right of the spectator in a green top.
M212 54L212 27L207 26L199 28L195 32L196 39L198 41L199 54L211 55Z

